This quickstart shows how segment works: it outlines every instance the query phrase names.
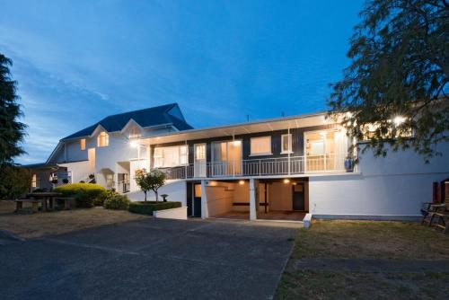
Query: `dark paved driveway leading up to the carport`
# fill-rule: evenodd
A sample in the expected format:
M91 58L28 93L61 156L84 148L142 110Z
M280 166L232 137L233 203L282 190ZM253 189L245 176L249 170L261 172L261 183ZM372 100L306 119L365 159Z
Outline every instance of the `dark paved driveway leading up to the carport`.
M0 246L2 299L267 299L295 228L147 219Z

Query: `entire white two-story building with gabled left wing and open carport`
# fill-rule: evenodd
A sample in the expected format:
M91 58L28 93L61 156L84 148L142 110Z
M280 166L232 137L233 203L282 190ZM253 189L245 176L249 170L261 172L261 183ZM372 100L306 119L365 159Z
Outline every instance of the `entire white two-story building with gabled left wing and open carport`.
M102 119L61 139L48 164L70 181L95 180L143 199L136 169L158 168L169 181L160 194L189 216L302 220L409 219L449 177L449 145L431 163L413 151L386 157L348 153L352 143L326 113L194 129L177 104ZM359 163L354 166L354 159ZM150 196L154 197L153 195Z

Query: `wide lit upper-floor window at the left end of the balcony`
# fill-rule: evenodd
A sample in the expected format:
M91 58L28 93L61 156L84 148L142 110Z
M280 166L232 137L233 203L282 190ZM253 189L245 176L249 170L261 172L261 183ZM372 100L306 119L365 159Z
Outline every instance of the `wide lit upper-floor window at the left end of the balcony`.
M154 148L154 167L168 168L189 163L187 146Z

